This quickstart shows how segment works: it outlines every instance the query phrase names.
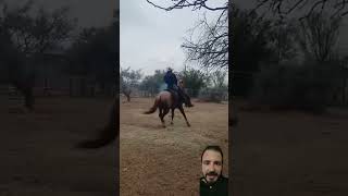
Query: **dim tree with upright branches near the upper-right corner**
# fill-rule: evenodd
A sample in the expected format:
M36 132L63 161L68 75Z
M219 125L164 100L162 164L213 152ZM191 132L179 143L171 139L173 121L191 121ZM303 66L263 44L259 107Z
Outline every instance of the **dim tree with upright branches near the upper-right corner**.
M318 62L332 60L340 24L341 17L327 17L319 12L301 21L298 40L303 52Z

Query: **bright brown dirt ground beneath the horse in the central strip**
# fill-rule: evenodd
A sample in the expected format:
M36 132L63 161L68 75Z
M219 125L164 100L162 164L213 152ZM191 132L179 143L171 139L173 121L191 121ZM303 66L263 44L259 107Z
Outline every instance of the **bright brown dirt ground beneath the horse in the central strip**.
M153 101L121 100L121 195L199 195L200 154L207 145L222 147L228 176L228 105L194 101L195 107L185 108L190 127L176 110L174 124L167 114L163 128L158 111L142 114Z

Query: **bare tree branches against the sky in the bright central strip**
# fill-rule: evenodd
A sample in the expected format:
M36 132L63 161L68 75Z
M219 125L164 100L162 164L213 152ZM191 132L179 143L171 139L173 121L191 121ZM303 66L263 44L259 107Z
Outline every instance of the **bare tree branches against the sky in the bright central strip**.
M197 40L195 40L192 36L186 38L182 47L187 53L188 61L196 61L201 68L208 71L228 69L228 2L221 7L210 7L208 5L208 0L171 0L172 5L167 7L158 5L150 0L147 0L147 2L165 11L192 8L192 11L206 9L220 12L220 16L212 24L209 24L204 17L196 27L191 28L191 35L194 35L196 30L201 30L203 34L198 36Z

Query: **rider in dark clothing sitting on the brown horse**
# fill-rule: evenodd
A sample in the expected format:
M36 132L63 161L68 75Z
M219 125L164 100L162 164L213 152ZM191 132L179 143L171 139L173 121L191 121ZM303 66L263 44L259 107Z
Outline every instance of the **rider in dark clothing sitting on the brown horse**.
M170 90L172 94L176 91L179 99L182 99L185 102L185 106L192 107L192 105L190 105L187 101L186 96L188 95L185 95L183 89L177 86L177 78L176 75L173 73L173 69L167 68L166 74L164 75L164 82L167 85L167 90Z

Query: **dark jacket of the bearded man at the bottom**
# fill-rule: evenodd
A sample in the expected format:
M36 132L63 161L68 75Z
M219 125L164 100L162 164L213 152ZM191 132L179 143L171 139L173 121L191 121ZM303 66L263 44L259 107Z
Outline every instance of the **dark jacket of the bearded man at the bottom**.
M228 179L221 175L213 184L207 184L200 179L200 196L228 196Z

